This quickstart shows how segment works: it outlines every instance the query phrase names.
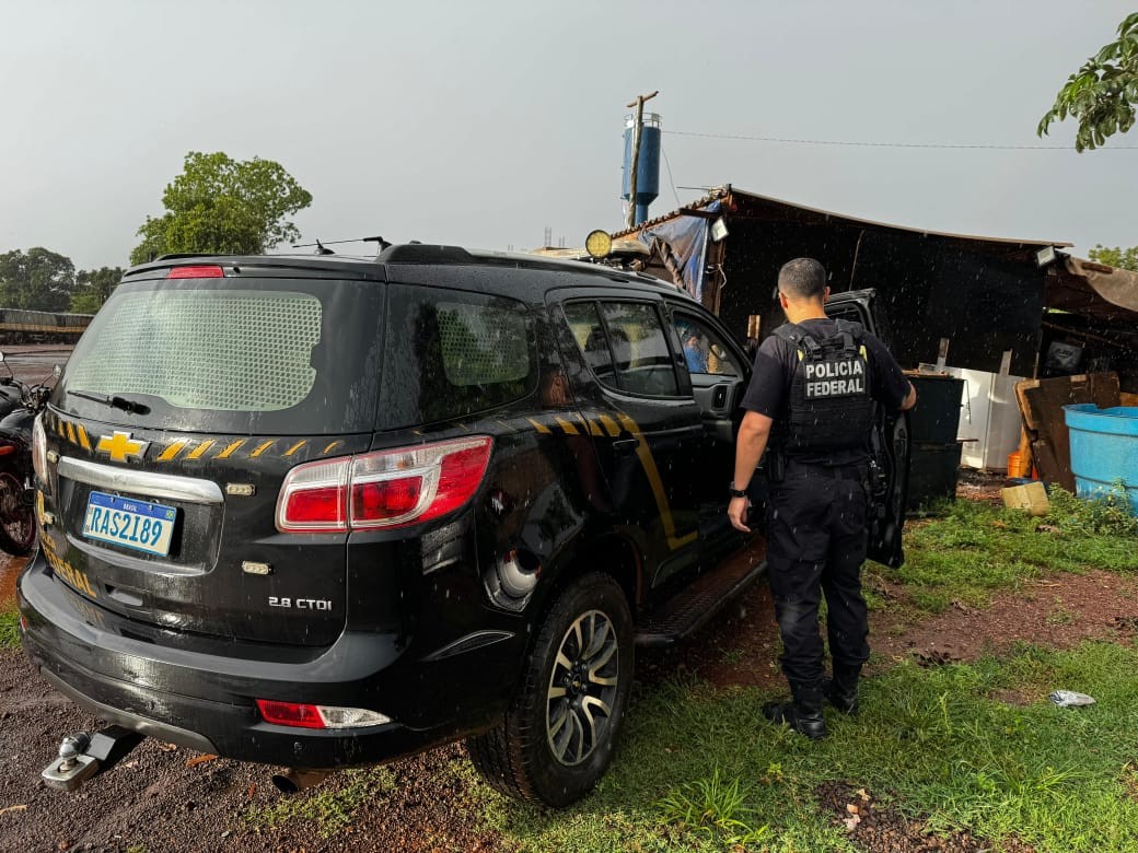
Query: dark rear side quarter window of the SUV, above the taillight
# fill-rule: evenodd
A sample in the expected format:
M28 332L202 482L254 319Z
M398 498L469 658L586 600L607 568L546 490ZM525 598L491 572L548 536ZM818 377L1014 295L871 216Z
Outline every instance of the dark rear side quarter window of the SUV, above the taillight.
M381 429L462 417L537 386L533 320L522 303L390 285Z

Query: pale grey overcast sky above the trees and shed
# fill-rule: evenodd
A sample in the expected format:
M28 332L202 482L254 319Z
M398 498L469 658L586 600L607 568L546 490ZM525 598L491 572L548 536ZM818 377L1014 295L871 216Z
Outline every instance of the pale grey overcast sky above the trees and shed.
M1123 0L0 0L0 251L125 264L187 151L281 163L306 241L530 248L621 224L625 103L660 90L651 215L741 189L929 230L1138 243L1138 131L1036 124Z

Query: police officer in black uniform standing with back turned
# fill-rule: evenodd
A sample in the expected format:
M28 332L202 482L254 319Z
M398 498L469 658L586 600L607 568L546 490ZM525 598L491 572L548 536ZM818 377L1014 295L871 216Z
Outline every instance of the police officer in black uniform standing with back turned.
M874 401L907 409L916 391L885 346L857 323L826 317L826 272L797 258L778 272L786 314L759 347L743 397L727 514L747 527L747 487L770 444L767 569L782 635L791 702L762 714L807 737L826 735L826 698L858 710L857 682L869 656L860 570L868 543L868 442ZM833 678L825 680L818 604L826 596Z

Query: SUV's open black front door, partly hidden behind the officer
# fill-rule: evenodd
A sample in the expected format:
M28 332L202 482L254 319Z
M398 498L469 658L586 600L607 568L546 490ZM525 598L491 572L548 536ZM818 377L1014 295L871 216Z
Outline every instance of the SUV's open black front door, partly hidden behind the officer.
M888 320L876 291L872 289L831 296L826 303L826 315L860 323L889 346ZM869 442L873 503L869 507L868 556L896 569L905 562L901 532L909 483L909 416L907 412L885 412L880 405L876 409L876 425Z

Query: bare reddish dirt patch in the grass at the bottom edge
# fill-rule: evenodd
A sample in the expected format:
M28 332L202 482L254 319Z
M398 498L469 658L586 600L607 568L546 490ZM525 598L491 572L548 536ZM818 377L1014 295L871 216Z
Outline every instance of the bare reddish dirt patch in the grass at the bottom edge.
M947 836L930 833L920 820L910 820L896 809L877 802L865 788L844 782L818 786L818 805L832 815L833 823L849 834L860 850L874 853L988 853L992 843L968 831ZM1032 853L1034 847L1015 838L1000 842L1005 853Z

